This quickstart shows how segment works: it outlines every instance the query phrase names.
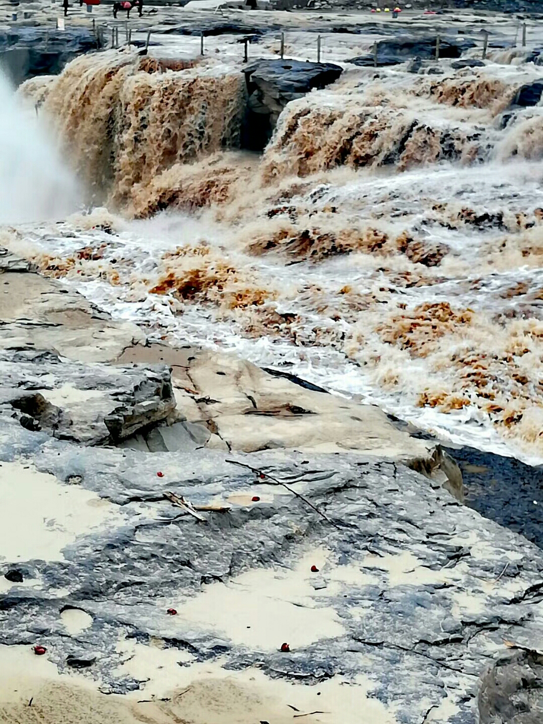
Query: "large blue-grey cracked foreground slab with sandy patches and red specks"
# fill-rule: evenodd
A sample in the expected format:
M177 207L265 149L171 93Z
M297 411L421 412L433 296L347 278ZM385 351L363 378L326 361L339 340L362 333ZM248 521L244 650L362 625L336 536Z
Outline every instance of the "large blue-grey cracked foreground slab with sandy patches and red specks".
M539 550L403 466L235 455L261 477L219 452L91 451L0 421L12 432L0 460L31 455L26 474L117 510L67 544L62 560L4 561L1 573L17 569L24 580L3 579L0 644L39 642L60 670L74 658L91 662L85 670L104 692L140 688L148 699L150 673L127 662L137 641L140 651L152 644L167 680L177 662L194 667L194 678L208 662L322 689L333 717L342 700L327 695L335 682L377 707L374 720L420 724L432 708L434 722L472 724L480 677L507 654L504 639L543 636ZM12 464L0 468L4 487ZM228 510L198 521L166 491ZM60 508L51 534L67 526L64 515ZM66 607L90 616L84 631L67 633ZM283 643L289 651L279 651Z

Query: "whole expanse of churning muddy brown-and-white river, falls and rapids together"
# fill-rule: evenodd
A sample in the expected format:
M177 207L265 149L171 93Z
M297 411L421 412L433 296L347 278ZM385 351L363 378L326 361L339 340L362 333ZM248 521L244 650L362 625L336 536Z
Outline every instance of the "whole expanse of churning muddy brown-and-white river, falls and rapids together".
M518 100L542 72L514 63L346 65L288 104L259 156L236 150L239 68L83 56L20 88L30 111L3 104L3 124L25 119L39 222L3 202L18 225L0 244L151 338L235 350L541 462L543 107Z

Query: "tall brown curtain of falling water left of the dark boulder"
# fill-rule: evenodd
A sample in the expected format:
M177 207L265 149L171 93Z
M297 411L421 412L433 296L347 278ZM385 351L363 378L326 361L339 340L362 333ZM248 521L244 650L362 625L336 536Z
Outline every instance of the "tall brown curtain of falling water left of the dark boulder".
M28 81L20 95L42 104L94 203L138 215L166 205L161 190L174 190L176 176L181 183L183 164L237 145L243 76L192 66L107 51L77 58L45 84Z

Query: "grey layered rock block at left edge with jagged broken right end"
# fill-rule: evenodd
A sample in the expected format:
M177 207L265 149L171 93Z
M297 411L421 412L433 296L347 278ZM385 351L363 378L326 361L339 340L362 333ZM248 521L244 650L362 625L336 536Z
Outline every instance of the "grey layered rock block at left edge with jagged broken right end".
M175 408L166 366L90 366L47 351L6 350L0 375L4 414L27 429L85 445L117 442Z

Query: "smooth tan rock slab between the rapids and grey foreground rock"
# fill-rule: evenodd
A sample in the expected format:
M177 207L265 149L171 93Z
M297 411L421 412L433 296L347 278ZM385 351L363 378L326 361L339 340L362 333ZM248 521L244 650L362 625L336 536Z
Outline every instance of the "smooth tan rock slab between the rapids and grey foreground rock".
M374 405L311 389L230 354L135 345L119 361L141 358L172 364L181 422L174 429L161 426L125 439L123 447L363 452L403 462L463 500L462 474L454 460L433 443L397 429Z

